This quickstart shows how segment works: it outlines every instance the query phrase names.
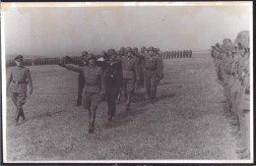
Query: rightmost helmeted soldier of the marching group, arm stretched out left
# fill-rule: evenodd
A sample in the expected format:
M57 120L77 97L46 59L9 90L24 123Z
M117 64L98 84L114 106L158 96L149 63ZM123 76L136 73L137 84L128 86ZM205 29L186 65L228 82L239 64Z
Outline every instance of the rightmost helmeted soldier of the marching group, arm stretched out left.
M154 103L157 95L157 85L161 77L160 59L152 46L149 48L149 54L150 56L144 56L136 53L135 56L140 57L144 61L147 94L151 102Z

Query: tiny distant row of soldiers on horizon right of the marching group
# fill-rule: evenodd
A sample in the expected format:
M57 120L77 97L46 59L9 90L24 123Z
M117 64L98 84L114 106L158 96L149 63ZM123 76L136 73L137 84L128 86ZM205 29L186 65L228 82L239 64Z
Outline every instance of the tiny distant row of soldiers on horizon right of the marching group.
M170 59L170 58L191 58L192 50L180 50L180 51L163 51L162 58Z

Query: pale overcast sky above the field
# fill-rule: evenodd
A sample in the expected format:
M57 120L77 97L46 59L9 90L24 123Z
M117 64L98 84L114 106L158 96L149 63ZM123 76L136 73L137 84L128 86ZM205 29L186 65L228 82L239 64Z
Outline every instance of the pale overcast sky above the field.
M9 8L6 54L81 55L143 45L209 49L249 30L251 15L248 6Z

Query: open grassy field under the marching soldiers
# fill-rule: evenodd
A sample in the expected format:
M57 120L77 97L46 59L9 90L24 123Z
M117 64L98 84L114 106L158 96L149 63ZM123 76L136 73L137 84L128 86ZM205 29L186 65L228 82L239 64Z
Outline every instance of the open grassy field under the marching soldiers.
M164 60L155 104L140 89L131 113L121 103L109 123L101 103L94 135L88 134L88 112L75 107L78 74L58 66L31 67L34 91L24 107L25 124L15 126L8 98L8 160L237 159L213 60L209 54L193 56Z

